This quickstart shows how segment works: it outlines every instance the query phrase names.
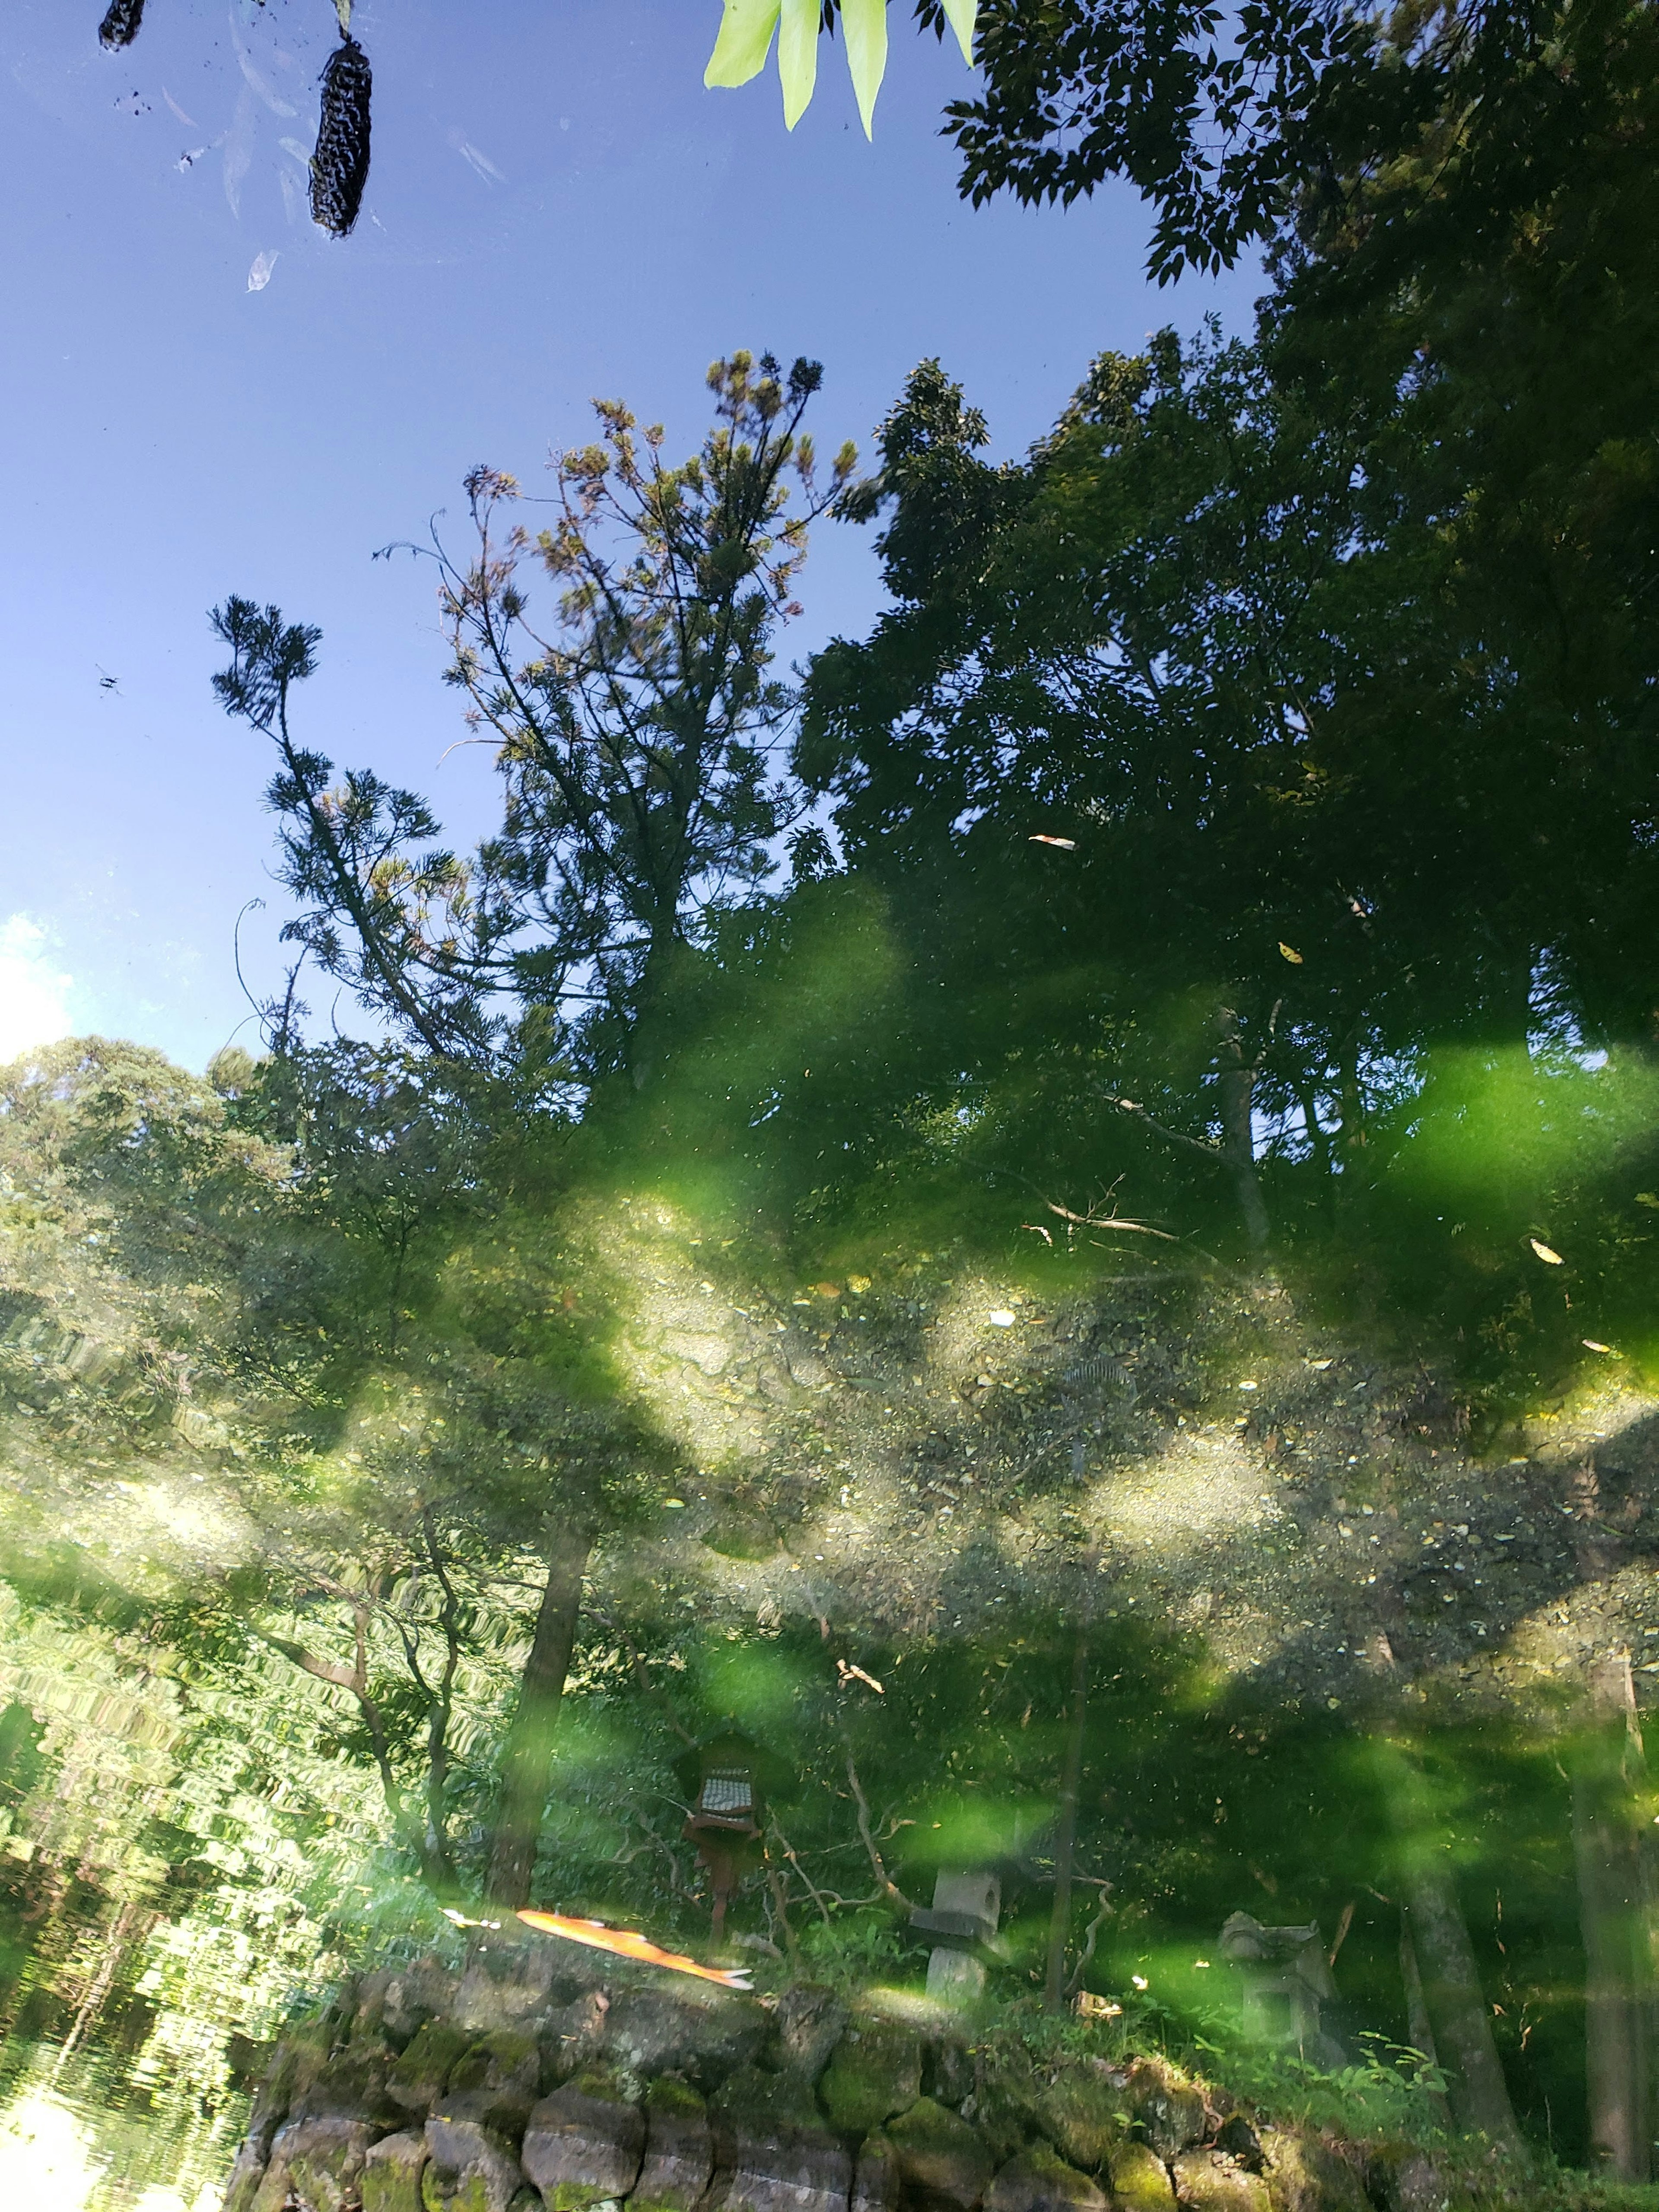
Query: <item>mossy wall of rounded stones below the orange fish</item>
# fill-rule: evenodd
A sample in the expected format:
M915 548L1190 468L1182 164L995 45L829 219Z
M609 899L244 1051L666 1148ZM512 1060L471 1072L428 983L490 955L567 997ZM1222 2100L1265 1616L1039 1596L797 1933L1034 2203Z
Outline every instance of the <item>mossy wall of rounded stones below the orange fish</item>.
M279 2044L226 2212L1367 2212L1363 2163L1155 2057L487 1938ZM1405 2208L1402 2208L1405 2212Z

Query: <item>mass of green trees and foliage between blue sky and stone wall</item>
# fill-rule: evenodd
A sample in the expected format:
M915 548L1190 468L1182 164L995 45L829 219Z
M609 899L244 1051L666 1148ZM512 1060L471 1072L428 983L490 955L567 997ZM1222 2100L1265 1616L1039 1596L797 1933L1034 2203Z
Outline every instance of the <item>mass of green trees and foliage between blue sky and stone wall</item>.
M20 2033L155 2066L241 1944L223 2101L223 2031L445 1902L697 1942L734 1721L763 1973L914 1978L995 1863L1009 2017L1057 1927L1117 2035L1502 2137L1478 2051L1398 2051L1444 1907L1531 2143L1648 2172L1584 1958L1648 2017L1657 18L1210 15L991 7L958 137L1128 170L1164 265L1267 237L1250 338L1104 354L1015 462L922 363L814 489L816 367L734 354L681 467L602 409L538 540L469 480L476 854L303 741L314 628L221 608L288 936L380 1042L294 980L208 1082L4 1075ZM796 688L830 507L887 608ZM1338 2075L1241 2044L1241 1907L1343 1929Z

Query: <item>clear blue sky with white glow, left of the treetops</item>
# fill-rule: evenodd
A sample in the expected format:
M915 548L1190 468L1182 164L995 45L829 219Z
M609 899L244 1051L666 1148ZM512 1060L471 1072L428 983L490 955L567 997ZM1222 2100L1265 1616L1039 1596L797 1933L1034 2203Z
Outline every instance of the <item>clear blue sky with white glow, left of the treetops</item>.
M305 741L467 838L491 774L440 765L431 575L372 562L436 509L460 526L467 467L533 482L593 394L690 447L737 345L825 363L823 447L867 445L938 354L1018 453L1102 347L1250 316L1252 272L1144 281L1130 192L958 201L938 117L971 80L907 0L874 146L838 49L794 135L772 71L703 91L719 0L358 0L374 170L345 243L301 168L332 0L150 0L124 55L100 11L9 0L0 31L0 1060L102 1029L201 1066L248 1013L250 898L246 973L279 973L268 763L208 690L226 593L323 626ZM803 599L790 657L869 622L865 531L821 529Z

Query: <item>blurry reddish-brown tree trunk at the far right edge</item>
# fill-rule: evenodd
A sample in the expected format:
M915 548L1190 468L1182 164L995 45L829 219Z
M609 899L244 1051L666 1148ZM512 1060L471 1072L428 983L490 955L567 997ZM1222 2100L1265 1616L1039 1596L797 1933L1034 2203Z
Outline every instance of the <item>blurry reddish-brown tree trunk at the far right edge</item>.
M1590 1674L1590 1723L1573 1759L1590 2159L1615 2181L1648 2181L1652 2170L1652 1966L1630 1803L1639 1781L1630 1655L1615 1652Z

